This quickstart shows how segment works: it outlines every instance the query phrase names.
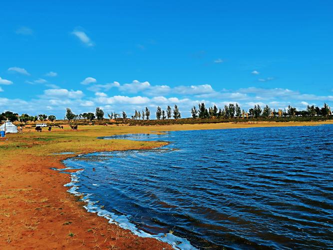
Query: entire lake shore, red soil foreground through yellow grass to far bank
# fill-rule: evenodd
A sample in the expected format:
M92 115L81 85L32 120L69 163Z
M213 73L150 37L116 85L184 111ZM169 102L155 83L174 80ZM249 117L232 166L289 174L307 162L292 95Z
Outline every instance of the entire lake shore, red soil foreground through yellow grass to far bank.
M282 123L282 124L281 124ZM56 173L51 167L65 168L62 160L74 152L148 149L163 145L156 141L101 140L98 136L124 133L176 130L223 129L244 127L279 127L333 124L321 122L214 123L157 126L80 126L79 130L35 131L8 134L0 141L0 246L7 248L91 248L120 247L172 249L153 238L134 235L105 218L87 212L84 202L75 200L63 184L69 175ZM4 226L3 226L4 225Z

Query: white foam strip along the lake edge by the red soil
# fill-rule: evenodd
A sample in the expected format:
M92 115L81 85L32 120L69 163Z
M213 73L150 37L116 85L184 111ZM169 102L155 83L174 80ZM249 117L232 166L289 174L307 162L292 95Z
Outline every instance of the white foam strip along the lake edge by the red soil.
M65 169L65 168L64 168ZM64 170L64 169L57 169L57 170ZM89 196L91 193L85 194L78 192L78 186L76 185L77 182L79 182L79 174L84 171L78 170L76 172L69 173L71 176L71 181L67 184L64 184L64 186L70 187L67 191L74 194L75 196L81 196L84 195L82 198L82 201L87 203L83 207L88 212L97 213L98 216L105 217L109 220L109 223L114 223L119 225L121 228L129 229L131 230L135 235L138 235L140 237L150 237L150 238L156 238L160 241L169 243L172 245L175 249L183 249L183 250L193 250L196 249L193 245L191 245L190 241L188 241L186 238L178 237L172 233L159 233L159 234L150 234L143 230L140 230L137 228L135 224L129 221L128 215L118 215L113 212L110 212L108 210L102 209L103 206L96 205L99 201L91 201L89 199ZM96 184L93 184L96 185Z

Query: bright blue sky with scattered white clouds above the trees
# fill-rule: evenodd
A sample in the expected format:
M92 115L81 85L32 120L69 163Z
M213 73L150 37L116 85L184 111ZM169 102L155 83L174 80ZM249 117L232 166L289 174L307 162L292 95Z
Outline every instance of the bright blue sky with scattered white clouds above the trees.
M333 2L6 1L0 111L333 104Z

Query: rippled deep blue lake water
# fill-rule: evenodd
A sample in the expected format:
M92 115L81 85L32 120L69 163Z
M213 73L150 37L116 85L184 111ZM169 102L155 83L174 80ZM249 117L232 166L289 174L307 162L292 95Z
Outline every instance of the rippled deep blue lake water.
M119 223L197 248L333 248L333 125L112 138L171 142L64 161L84 169L72 190Z

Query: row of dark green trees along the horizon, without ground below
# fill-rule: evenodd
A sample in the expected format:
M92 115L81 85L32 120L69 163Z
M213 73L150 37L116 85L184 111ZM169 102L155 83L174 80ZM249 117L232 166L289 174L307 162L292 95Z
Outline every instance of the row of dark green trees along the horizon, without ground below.
M181 113L177 105L174 105L173 109L170 105L166 107L166 109L162 109L160 106L156 108L156 119L164 120L164 119L180 119ZM256 104L253 108L250 108L248 111L242 109L238 103L229 103L228 105L224 105L223 108L218 108L216 105L211 107L206 107L205 103L199 103L198 107L193 106L191 108L192 118L200 118L200 119L212 119L212 118L270 118L270 117L295 117L295 116L328 116L332 115L331 107L324 103L322 107L315 105L308 105L305 110L297 110L296 107L289 105L285 109L279 108L278 110L272 109L268 105L265 105L263 108ZM151 115L151 111L148 107L140 110L135 110L134 114L131 115L131 118L134 120L149 120ZM117 112L107 113L109 119L117 119L123 118L127 119L127 113L122 111L121 114ZM38 115L28 115L27 113L23 113L18 115L18 113L13 113L11 111L5 111L0 114L1 120L10 120L15 121L18 120L22 123L26 123L27 121L32 121L36 123L36 121L40 120L49 120L53 122L56 120L55 115L46 115L46 114L38 114ZM95 112L84 112L80 114L75 114L72 112L70 108L66 108L66 113L64 119L71 121L77 119L86 119L90 122L94 119L102 120L104 119L104 111L100 107L96 107Z

